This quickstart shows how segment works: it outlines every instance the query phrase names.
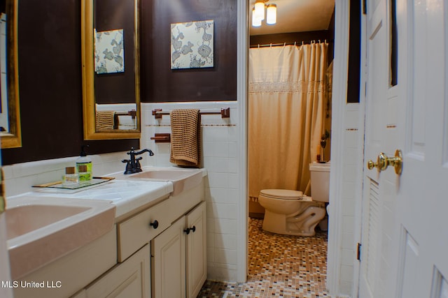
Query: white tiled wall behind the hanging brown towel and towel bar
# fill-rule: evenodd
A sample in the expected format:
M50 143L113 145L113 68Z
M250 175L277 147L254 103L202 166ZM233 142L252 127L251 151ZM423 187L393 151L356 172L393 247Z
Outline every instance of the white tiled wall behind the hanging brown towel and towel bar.
M193 103L142 103L141 148L150 148L155 155L146 158L146 165L169 163L169 144L156 144L154 133L170 133L169 116L155 119L153 109L165 111L198 108L219 111L230 107L230 119L220 115L202 115L202 166L207 169L207 264L209 280L237 281L237 231L243 226L237 215L239 188L238 105L237 101Z

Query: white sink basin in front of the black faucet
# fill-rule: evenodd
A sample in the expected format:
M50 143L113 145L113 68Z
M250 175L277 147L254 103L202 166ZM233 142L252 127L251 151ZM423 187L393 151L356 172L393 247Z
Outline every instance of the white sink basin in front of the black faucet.
M143 172L130 175L121 175L120 178L138 179L148 181L171 181L172 195L177 195L199 185L204 176L202 169L181 169L179 167L144 167Z

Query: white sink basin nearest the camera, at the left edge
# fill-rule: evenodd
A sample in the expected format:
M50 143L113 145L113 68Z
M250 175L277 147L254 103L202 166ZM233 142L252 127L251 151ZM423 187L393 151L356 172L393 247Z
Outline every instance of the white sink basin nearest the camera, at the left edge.
M11 278L17 279L88 244L113 228L109 202L25 195L8 200Z

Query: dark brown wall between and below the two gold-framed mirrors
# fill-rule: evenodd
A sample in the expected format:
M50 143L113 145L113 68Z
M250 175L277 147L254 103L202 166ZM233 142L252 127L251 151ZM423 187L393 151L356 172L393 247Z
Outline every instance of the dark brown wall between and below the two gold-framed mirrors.
M19 1L22 148L2 149L3 165L139 147L139 140L83 140L80 0Z

